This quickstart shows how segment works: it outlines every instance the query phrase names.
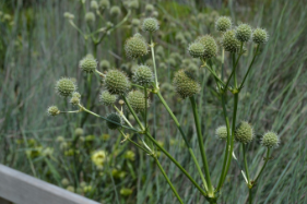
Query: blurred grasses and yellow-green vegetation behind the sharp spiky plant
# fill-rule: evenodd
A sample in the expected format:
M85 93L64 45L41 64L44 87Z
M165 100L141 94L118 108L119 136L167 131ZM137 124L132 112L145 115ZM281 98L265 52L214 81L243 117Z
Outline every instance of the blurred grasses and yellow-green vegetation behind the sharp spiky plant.
M219 40L214 21L220 15L231 16L236 24L246 22L268 29L270 40L262 46L238 106L238 120L249 121L257 135L274 130L282 141L257 187L255 203L307 203L306 1L132 1L128 20L97 46L99 69L118 68L131 74L137 62L125 56L125 40L142 32L137 20L156 16L161 23L155 41L162 93L200 158L189 104L180 100L172 86L174 71L186 68L198 72L203 87L198 96L199 111L215 181L225 145L214 136L215 129L224 124L222 107L213 79L189 57L187 46L203 34ZM104 9L103 17L96 16L90 29L107 22L116 25L126 16L127 3L129 0L110 1L110 7L120 8L120 14L113 16L110 8ZM91 11L90 0L85 4L85 11ZM154 9L150 10L149 4ZM79 61L93 53L93 45L71 26L64 12L74 15L73 22L82 31L88 28L78 0L0 0L0 163L102 203L176 203L153 160L130 144L120 143L120 135L109 132L105 122L91 116L84 119L84 113L47 116L46 109L52 104L61 110L73 109L54 92L61 76L74 77L83 96L91 91L92 110L102 116L110 111L96 97L102 89L99 77L93 75L92 83L86 84L86 75L79 69ZM251 57L250 52L243 57L239 76ZM229 74L229 57L225 58L225 74ZM150 58L146 63L152 63ZM83 99L85 104L86 97ZM151 100L151 131L200 181L173 121L156 98ZM257 137L248 149L255 175L263 163L264 148ZM162 154L160 160L185 203L204 202L174 164ZM245 203L247 197L240 168L233 163L220 202Z

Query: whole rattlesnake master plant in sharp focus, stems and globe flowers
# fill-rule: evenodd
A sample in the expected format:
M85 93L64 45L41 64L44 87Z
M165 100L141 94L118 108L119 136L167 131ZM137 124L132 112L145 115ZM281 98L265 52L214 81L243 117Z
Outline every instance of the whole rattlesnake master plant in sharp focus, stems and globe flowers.
M108 1L102 1L99 7L107 8L109 4ZM96 7L96 5L95 5ZM146 10L151 11L152 9L149 7ZM137 23L135 23L137 24ZM139 24L139 23L138 23ZM144 37L143 35L137 33L132 37L128 38L126 45L122 49L125 49L127 57L132 58L133 60L144 61L144 58L147 58L149 49L152 58L153 71L150 67L144 65L144 63L139 64L133 74L132 80L133 83L130 82L130 79L123 73L121 70L117 69L108 69L107 72L102 73L97 70L96 60L93 57L86 57L80 61L80 67L86 73L96 73L104 81L103 92L99 95L99 99L103 106L108 106L111 109L113 113L107 115L106 117L99 116L91 110L88 110L88 106L85 107L81 103L81 95L75 92L75 84L69 79L61 79L57 82L56 91L60 96L70 96L70 100L73 101L73 105L79 107L78 110L73 111L60 111L56 106L51 106L48 108L48 113L50 116L58 116L59 113L78 113L85 111L95 117L98 117L103 120L106 120L107 128L114 131L118 131L123 140L122 142L130 142L135 147L145 152L150 157L154 159L157 167L160 168L162 175L164 176L166 182L169 184L172 191L177 197L179 203L184 203L181 196L177 192L177 188L174 187L173 182L166 175L163 166L160 164L157 152L160 149L165 156L176 165L176 167L181 171L184 176L191 182L191 184L203 195L208 202L216 203L219 195L222 193L222 188L225 183L226 176L228 173L233 155L236 155L235 152L235 142L237 145L241 145L243 151L243 160L244 169L239 169L243 172L243 181L246 181L246 184L249 189L249 203L252 202L252 189L257 185L258 179L261 176L267 163L270 159L270 151L273 147L276 147L280 143L280 139L276 133L270 131L267 132L261 140L261 144L267 148L267 156L264 158L264 165L255 179L251 179L248 170L248 163L246 153L248 149L248 144L252 142L253 134L257 133L257 130L252 129L251 123L241 121L237 122L237 110L238 110L238 99L241 88L244 87L247 75L252 68L252 64L256 60L256 57L260 55L259 47L267 43L268 34L264 29L252 28L248 24L239 24L235 28L232 29L232 20L227 16L222 16L217 19L215 22L216 31L219 31L220 36L211 36L211 35L202 35L194 36L194 40L187 47L188 52L192 58L199 59L202 65L198 69L204 69L209 72L215 81L216 84L216 96L221 100L221 107L223 109L224 117L224 125L221 125L216 129L215 135L221 143L225 143L224 156L221 158L222 169L219 172L220 177L216 181L212 181L210 167L208 165L208 155L204 148L203 139L211 135L203 135L202 129L199 119L199 112L197 108L196 97L198 97L201 92L210 92L208 87L202 88L199 84L201 79L198 79L198 75L193 72L190 72L188 69L178 69L176 68L177 57L175 55L173 60L174 68L177 70L174 72L173 86L169 84L163 84L160 87L161 82L158 82L157 76L157 67L155 62L155 43L153 38L153 34L158 28L157 20L150 17L145 19L142 22L142 27L144 32L150 33L150 39ZM216 37L222 37L220 41L222 47L217 47ZM252 46L248 46L248 43L252 41L256 44L256 50L250 50L253 53L253 58L251 62L248 64L247 72L243 73L241 77L238 77L237 72L243 70L239 68L239 59L244 53L245 47L249 48ZM161 59L161 56L164 55L163 47L160 47L157 50L158 56L157 59ZM225 53L225 51L227 51ZM216 56L222 53L222 60L214 60ZM219 56L217 56L219 57ZM226 74L226 79L222 80L220 77L221 73L225 72L224 68L224 57L229 57L232 60L232 71L231 74ZM178 57L180 60L180 57ZM135 61L137 61L135 60ZM186 63L186 62L184 62ZM214 64L216 63L216 64ZM214 64L214 65L213 65ZM109 67L109 64L107 64ZM239 81L239 82L238 82ZM178 119L168 107L164 97L161 94L162 88L167 88L168 92L176 92L178 96L184 99L190 100L191 112L193 113L194 119L194 130L198 137L198 145L200 151L200 157L196 157L194 151L190 146L188 136L185 131L182 131L181 124L178 122ZM169 94L169 93L167 93ZM83 94L82 94L83 95ZM82 96L83 97L83 96ZM191 177L190 172L188 172L178 160L176 160L152 135L151 131L153 129L152 123L149 123L147 115L149 115L149 106L150 99L152 97L157 97L163 106L166 108L167 112L174 120L176 127L178 128L182 140L187 146L187 152L190 154L192 161L197 168L197 172L201 178L201 184ZM119 98L120 108L116 106L116 100ZM231 103L228 100L234 99L233 107L231 107ZM228 104L228 106L226 106ZM123 106L125 105L125 106ZM229 109L233 109L232 121L228 120ZM130 112L133 117L126 117L127 112ZM132 133L132 134L131 134ZM143 135L146 140L142 140L134 142L130 135ZM164 136L164 135L163 135ZM191 136L191 135L189 135ZM209 142L211 144L211 141ZM157 148L154 148L156 146ZM237 160L239 163L239 160ZM215 173L216 175L216 173ZM229 178L231 179L231 178Z

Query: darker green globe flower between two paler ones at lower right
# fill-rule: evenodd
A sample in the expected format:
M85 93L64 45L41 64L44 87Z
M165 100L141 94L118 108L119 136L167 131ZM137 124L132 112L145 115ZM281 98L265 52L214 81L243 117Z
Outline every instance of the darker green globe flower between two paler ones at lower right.
M243 144L247 144L252 141L252 137L253 137L252 127L248 122L241 121L236 127L236 130L235 130L236 141L238 141Z

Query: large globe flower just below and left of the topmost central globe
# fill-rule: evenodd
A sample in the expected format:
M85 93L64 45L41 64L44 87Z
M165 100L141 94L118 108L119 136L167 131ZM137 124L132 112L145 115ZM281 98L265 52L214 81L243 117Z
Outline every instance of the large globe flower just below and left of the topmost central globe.
M149 52L147 43L143 38L133 36L127 39L125 50L129 58L135 59Z

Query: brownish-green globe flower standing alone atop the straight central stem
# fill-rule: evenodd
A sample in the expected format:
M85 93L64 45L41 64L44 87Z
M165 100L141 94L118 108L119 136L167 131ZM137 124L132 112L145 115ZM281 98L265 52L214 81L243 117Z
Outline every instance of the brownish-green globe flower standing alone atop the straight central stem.
M185 70L175 73L173 84L181 98L191 97L200 92L200 85L194 75Z

